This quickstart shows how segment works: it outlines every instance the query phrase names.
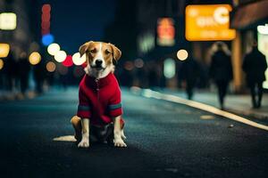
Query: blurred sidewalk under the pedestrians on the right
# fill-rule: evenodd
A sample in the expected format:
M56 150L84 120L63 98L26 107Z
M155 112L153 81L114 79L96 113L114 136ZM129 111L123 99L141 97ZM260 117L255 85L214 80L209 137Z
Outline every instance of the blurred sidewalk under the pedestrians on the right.
M187 94L181 90L174 91L164 89L162 92L187 98ZM220 108L217 93L214 92L197 90L194 93L193 101L203 102L216 108ZM261 109L252 109L250 94L228 94L225 98L225 109L246 117L268 120L268 93L264 93Z

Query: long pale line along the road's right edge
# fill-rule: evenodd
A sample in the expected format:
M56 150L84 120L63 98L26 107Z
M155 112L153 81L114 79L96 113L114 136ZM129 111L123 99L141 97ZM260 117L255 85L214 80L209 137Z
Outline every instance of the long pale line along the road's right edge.
M185 105L188 105L188 106L196 108L196 109L202 109L202 110L214 113L214 114L222 116L222 117L230 118L231 120L235 120L235 121L243 123L245 125L251 125L251 126L254 126L256 128L260 128L260 129L263 129L265 131L268 131L267 125L261 125L261 124L255 123L251 120L248 120L247 118L239 117L238 115L232 114L232 113L224 111L222 109L217 109L213 106L210 106L210 105L207 105L207 104L204 104L201 102L189 101L187 99L180 98L179 96L174 96L172 94L159 93L159 92L155 92L155 91L149 90L149 89L142 90L141 94L147 98L155 98L158 100L172 101L172 102L176 102L176 103L180 103L180 104L185 104Z

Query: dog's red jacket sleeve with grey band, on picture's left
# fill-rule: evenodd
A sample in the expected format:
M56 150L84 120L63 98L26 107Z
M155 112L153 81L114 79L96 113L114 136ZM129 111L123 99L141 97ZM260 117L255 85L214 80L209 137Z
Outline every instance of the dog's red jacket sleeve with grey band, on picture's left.
M86 93L84 93L81 88L79 92L79 105L77 109L77 116L81 118L91 117L90 102L88 101Z

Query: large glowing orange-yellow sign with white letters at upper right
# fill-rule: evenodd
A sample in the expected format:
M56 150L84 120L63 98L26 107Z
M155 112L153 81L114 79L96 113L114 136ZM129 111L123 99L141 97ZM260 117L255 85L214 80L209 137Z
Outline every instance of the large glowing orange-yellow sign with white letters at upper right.
M229 28L230 4L188 5L185 37L188 41L232 40L235 29Z

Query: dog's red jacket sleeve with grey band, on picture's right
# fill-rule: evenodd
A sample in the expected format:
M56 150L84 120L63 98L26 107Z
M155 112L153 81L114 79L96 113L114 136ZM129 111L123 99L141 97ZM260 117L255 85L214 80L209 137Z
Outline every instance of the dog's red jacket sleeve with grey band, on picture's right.
M109 101L109 113L111 117L122 115L121 91L119 87L115 89L115 92Z

